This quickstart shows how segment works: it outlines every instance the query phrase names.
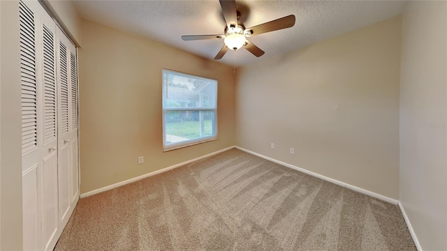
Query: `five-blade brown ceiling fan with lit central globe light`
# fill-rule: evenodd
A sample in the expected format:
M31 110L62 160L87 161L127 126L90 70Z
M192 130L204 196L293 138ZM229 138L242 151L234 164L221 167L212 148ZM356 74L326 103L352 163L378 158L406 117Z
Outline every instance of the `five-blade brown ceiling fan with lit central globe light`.
M217 53L214 59L221 59L228 49L238 50L240 47L244 47L255 56L262 56L265 52L247 40L247 38L261 33L290 28L291 26L295 25L295 15L288 15L286 17L281 17L277 20L258 24L246 29L244 24L239 20L240 13L236 10L236 1L219 0L219 2L221 3L223 17L226 21L226 27L223 30L223 34L182 36L182 39L185 41L223 39L225 45L223 45L222 49L219 53Z

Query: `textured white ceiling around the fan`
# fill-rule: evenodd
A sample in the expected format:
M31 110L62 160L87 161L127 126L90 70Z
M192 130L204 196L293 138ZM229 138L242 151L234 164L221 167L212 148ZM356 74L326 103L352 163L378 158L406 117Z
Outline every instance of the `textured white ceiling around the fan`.
M223 34L225 21L218 0L212 1L73 1L80 15L94 22L144 36L186 52L214 59L223 40L184 41L182 35ZM405 1L245 1L237 10L246 27L286 15L295 26L253 36L265 51L256 58L247 50L228 51L220 61L245 65L358 29L402 13Z

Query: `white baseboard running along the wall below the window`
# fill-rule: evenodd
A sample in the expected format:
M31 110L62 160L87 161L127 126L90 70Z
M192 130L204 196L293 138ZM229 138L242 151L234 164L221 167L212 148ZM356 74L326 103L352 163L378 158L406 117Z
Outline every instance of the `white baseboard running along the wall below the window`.
M121 182L118 182L118 183L115 183L115 184L112 184L112 185L105 186L105 187L103 187L103 188L98 188L98 189L96 189L96 190L92 190L92 191L90 191L90 192L85 192L85 193L83 193L80 197L81 197L81 198L89 197L89 196L91 196L91 195L96 195L97 193L100 193L100 192L104 192L104 191L107 191L107 190L110 190L110 189L113 189L113 188L118 188L118 187L120 187L120 186L122 186L122 185L126 185L126 184L129 184L129 183L133 183L133 182L135 182L135 181L139 181L140 179L147 178L147 177L150 177L150 176L154 176L154 175L156 175L156 174L161 174L161 173L163 173L163 172L167 172L167 171L169 171L170 169L174 169L174 168L177 168L177 167L181 167L182 165L186 165L186 164L189 164L189 163L191 163L191 162L194 162L194 161L197 161L197 160L201 160L201 159L203 159L203 158L207 158L207 157L210 157L210 156L212 156L212 155L216 155L217 153L221 153L221 152L224 152L224 151L228 151L228 150L233 149L233 148L235 148L235 146L230 146L230 147L227 147L226 149L221 149L221 150L219 150L219 151L215 151L215 152L213 152L213 153L208 153L207 155L203 155L203 156L200 156L200 157L198 157L198 158L194 158L194 159L192 159L192 160L187 160L187 161L185 161L185 162L182 162L182 163L179 163L179 164L176 164L176 165L172 165L172 166L170 166L170 167L166 167L166 168L163 168L163 169L159 169L159 170L156 170L156 171L154 171L154 172L149 172L148 174L143 174L143 175L138 176L138 177L135 177L135 178L130 178L130 179L126 180L126 181L121 181Z

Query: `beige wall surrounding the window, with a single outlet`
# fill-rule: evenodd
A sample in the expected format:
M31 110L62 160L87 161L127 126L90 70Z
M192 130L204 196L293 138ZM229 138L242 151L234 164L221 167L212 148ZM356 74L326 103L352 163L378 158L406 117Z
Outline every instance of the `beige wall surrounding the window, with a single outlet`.
M234 145L233 68L94 22L82 24L81 193ZM218 80L219 139L163 153L162 68ZM137 165L138 156L144 164Z

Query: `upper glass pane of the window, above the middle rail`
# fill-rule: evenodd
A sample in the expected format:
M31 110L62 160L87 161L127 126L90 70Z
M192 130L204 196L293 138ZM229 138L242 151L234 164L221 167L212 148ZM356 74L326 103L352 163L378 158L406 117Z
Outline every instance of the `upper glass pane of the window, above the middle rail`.
M216 108L217 81L163 70L163 107Z

